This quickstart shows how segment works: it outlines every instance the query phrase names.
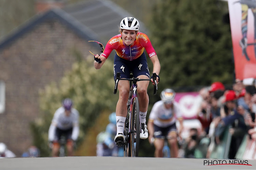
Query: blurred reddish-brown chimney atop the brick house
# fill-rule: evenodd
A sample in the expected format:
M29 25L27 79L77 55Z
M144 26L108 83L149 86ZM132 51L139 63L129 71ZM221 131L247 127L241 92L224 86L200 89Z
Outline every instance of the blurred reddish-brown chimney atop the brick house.
M42 13L53 8L62 8L63 6L63 0L37 0L35 2L35 12Z

